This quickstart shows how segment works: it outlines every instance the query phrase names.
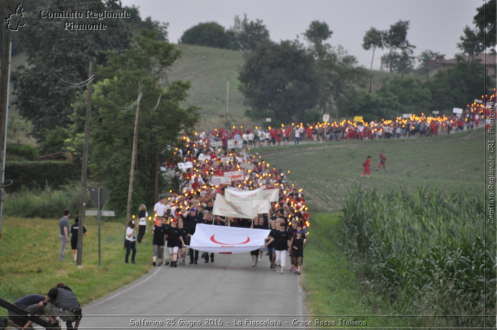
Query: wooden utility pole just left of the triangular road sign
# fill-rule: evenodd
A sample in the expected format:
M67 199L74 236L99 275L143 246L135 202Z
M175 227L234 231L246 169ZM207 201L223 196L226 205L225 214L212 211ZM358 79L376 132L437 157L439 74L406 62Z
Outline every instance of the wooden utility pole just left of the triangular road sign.
M88 78L93 76L94 60L90 59L88 66ZM83 165L81 166L81 194L80 194L80 221L78 223L78 252L76 254L76 264L81 265L83 258L83 228L84 209L86 200L86 168L88 165L88 149L90 140L90 120L91 120L91 94L93 92L93 80L90 80L86 89L86 114L84 117L84 147Z

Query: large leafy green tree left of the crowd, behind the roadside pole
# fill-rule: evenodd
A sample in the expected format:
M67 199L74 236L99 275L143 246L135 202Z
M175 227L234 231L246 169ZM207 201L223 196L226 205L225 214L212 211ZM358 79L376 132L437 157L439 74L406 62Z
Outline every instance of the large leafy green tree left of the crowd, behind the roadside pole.
M132 210L142 203L154 202L156 177L162 181L164 177L158 175L160 164L173 152L167 146L176 143L180 132L190 132L199 119L197 108L186 103L189 83L173 81L167 88L158 84L159 75L180 56L180 51L158 41L157 32L143 31L136 43L137 47L125 53L108 54L108 66L99 67L102 80L94 85L92 94L88 168L96 182L112 189L109 207L120 215L125 212L122 206L127 200L135 108L122 110L115 106L132 104L138 97L138 85L142 84ZM84 99L83 95L75 104L80 119L73 135L82 130ZM78 145L77 141L74 144Z

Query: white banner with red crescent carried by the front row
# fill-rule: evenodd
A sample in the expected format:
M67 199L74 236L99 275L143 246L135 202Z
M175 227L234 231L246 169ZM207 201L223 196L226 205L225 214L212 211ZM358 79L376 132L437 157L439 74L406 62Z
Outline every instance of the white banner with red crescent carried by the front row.
M198 224L188 248L209 253L243 253L264 246L269 229Z

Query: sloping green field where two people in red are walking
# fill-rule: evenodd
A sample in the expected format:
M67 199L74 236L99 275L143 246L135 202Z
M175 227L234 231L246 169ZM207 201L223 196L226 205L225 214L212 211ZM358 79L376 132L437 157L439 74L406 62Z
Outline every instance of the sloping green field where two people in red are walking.
M291 170L289 180L304 188L308 203L338 211L347 190L358 183L380 191L428 186L483 196L483 141L484 130L478 129L430 138L290 145L258 151L269 164ZM387 171L375 170L379 151L387 157ZM369 179L360 178L367 156L373 157Z

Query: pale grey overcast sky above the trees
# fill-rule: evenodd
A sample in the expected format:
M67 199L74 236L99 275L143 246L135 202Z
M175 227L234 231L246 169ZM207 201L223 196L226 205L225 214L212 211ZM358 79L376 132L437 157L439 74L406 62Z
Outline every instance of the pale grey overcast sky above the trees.
M333 31L328 42L341 45L369 68L372 51L362 49L362 37L371 26L386 30L399 20L409 20L409 42L414 56L430 49L454 58L465 25L474 27L473 16L484 0L122 0L123 5L140 7L142 18L168 22L169 41L177 43L188 28L215 21L225 28L235 15L262 19L273 41L293 40L313 20L325 21ZM301 37L302 39L302 37ZM375 52L373 68L380 67Z

